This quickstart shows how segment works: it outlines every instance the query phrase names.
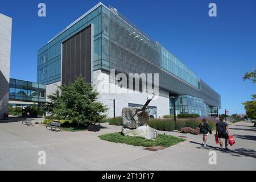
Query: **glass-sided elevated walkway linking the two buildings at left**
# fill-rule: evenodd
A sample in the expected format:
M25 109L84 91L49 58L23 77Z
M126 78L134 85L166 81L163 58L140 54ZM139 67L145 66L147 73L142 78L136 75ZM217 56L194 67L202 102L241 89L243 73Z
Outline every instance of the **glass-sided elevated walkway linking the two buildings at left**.
M10 78L9 100L46 102L46 85Z

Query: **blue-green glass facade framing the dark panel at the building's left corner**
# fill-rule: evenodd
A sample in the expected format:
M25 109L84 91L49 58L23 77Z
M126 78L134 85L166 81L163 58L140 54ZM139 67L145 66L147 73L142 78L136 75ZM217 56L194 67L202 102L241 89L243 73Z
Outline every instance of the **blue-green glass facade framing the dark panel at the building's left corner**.
M104 6L98 6L39 49L39 83L51 84L61 80L61 44L89 24L93 24L93 70L109 71L109 10Z

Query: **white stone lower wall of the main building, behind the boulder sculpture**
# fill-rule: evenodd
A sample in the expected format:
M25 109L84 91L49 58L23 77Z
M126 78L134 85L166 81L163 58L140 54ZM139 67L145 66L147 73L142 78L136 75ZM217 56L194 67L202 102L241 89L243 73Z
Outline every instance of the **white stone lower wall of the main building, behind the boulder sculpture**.
M113 99L115 99L115 116L121 116L122 108L127 107L129 103L143 105L147 98L150 97L148 93L133 92L119 87L115 87L115 92L109 92L108 88L114 86L110 82L112 81L110 81L109 73L102 72L101 70L93 72L93 85L100 92L98 99L109 107L108 117L113 117L114 115ZM149 105L157 107L158 118L170 114L169 93L160 90L159 96L155 96Z

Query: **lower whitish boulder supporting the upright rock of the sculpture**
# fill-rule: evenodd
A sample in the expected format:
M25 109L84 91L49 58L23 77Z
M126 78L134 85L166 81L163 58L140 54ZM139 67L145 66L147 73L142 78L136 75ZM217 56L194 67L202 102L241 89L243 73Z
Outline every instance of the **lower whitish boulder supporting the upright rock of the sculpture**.
M155 139L158 135L155 129L148 125L137 127L137 129L122 129L122 134L129 137L142 137L145 139Z

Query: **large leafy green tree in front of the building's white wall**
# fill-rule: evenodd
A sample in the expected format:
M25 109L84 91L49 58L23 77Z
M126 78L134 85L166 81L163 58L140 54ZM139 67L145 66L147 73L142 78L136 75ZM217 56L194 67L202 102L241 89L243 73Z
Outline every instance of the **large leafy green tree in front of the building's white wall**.
M78 126L87 126L106 117L108 108L97 101L99 93L80 75L69 85L58 86L47 103L47 112L70 119Z

